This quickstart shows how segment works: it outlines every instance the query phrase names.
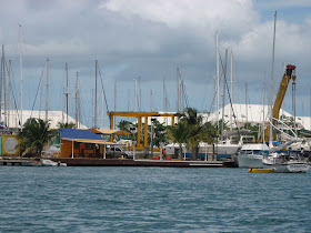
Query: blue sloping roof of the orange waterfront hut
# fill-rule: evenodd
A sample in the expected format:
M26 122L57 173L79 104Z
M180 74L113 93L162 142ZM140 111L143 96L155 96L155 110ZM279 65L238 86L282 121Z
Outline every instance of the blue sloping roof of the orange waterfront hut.
M59 132L61 139L89 139L103 141L103 139L100 135L91 132L90 130L61 128L59 129Z

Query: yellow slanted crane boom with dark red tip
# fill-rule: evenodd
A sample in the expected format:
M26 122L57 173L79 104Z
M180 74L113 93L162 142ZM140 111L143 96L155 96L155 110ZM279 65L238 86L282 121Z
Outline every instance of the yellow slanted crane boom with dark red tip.
M292 79L292 82L295 83L295 65L292 64L288 64L287 65L287 70L284 72L283 79L280 83L280 88L278 91L278 95L275 98L274 101L274 105L273 105L273 110L272 110L272 116L273 119L279 119L280 116L280 109L282 107L287 90L288 90L288 85L290 83L290 80ZM272 120L272 124L274 124L275 120ZM270 132L270 124L267 126L265 131L264 131L264 140L268 141L269 140L269 132ZM277 134L273 133L272 134L273 140L275 140Z

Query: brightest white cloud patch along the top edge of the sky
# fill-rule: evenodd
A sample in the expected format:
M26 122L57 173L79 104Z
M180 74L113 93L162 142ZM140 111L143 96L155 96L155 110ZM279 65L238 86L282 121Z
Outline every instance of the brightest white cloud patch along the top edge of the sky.
M215 30L230 24L240 31L258 19L251 0L108 0L100 8L127 18L137 16L172 28L191 26L212 27Z

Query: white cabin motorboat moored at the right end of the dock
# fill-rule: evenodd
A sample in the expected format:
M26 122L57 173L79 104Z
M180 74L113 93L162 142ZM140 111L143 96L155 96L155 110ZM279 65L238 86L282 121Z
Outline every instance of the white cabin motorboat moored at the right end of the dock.
M239 168L262 169L262 158L269 153L269 148L263 143L244 144L238 153Z

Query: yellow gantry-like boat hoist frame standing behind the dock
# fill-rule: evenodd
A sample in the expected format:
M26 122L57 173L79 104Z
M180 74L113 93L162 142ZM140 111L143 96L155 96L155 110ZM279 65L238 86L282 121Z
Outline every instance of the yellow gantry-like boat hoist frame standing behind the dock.
M172 118L172 125L174 125L174 118L177 116L173 113L159 113L159 112L107 112L110 119L110 130L113 130L113 118L114 116L127 116L127 118L137 118L138 119L138 139L137 148L147 148L148 146L148 118L154 116L170 116ZM144 118L144 140L143 145L141 143L141 119ZM112 142L112 135L110 141Z

